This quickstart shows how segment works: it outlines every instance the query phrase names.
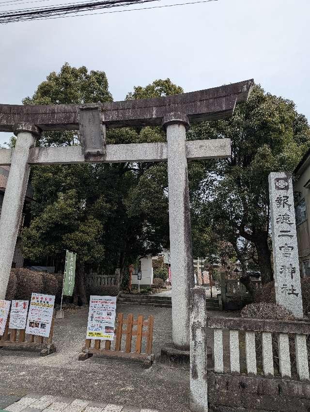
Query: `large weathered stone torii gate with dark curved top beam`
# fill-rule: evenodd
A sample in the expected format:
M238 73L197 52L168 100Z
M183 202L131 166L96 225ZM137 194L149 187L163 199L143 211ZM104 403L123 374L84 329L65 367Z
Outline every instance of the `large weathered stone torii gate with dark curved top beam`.
M154 99L87 105L0 105L0 131L14 132L14 150L0 149L10 165L0 216L0 299L4 299L31 164L153 162L168 160L172 273L172 336L189 349L189 290L194 286L187 159L227 158L230 139L186 142L190 122L227 119L244 102L253 80ZM106 128L159 126L167 143L106 144ZM35 147L41 131L79 130L81 146Z

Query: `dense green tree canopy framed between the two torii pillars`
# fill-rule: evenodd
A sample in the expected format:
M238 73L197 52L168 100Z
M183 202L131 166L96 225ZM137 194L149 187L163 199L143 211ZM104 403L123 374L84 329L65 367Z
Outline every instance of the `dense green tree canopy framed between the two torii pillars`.
M136 87L128 98L180 93L169 79ZM52 72L25 104L111 101L106 75L67 63ZM158 127L112 129L108 143L160 142ZM79 144L78 132L45 132L39 145ZM23 252L31 262L63 269L64 249L77 252L75 299L86 302L84 275L106 274L169 244L167 165L114 163L35 166L31 169L32 220L23 232ZM119 279L121 282L122 279Z

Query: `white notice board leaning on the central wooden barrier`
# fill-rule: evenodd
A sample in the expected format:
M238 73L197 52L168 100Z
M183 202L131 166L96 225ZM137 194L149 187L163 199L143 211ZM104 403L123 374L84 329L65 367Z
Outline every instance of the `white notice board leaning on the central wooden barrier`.
M116 296L91 296L86 339L113 340Z

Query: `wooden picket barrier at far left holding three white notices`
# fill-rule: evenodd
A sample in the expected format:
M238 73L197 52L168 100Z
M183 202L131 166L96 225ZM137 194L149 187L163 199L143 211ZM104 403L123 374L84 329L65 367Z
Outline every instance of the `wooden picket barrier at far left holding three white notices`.
M56 352L56 347L53 343L54 317L52 318L48 338L37 335L26 335L25 329L9 329L9 322L10 315L8 316L4 333L0 336L0 349L40 351L40 356L47 356L50 353Z

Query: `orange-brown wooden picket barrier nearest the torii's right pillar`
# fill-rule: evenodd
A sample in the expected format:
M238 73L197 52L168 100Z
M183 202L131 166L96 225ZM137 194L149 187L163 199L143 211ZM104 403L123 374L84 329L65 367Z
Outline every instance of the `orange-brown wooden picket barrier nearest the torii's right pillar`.
M85 346L82 348L82 352L79 354L78 360L85 361L93 356L94 353L99 353L108 357L115 358L129 358L132 360L140 360L144 364L151 365L154 361L154 354L152 354L153 345L153 325L154 317L149 316L148 320L144 320L142 315L139 315L137 320L134 320L132 314L124 319L123 313L119 313L117 317L117 326L115 333L115 346L111 349L111 341L100 339L86 339ZM123 330L123 326L126 327ZM146 331L143 331L143 327L147 327ZM134 329L134 327L137 327ZM125 335L124 350L122 348L122 337ZM135 349L132 348L132 338L136 336ZM146 338L145 353L142 351L142 339ZM92 341L94 341L92 348ZM104 343L104 349L101 349L101 345Z

